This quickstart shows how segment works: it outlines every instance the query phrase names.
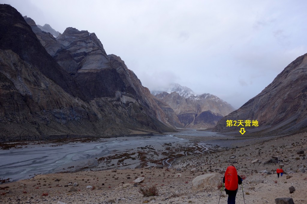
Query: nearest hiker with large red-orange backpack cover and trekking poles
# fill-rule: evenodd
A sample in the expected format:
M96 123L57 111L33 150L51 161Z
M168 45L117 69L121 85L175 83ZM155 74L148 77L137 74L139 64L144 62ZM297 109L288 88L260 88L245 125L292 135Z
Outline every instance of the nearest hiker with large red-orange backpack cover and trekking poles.
M234 166L228 166L223 178L225 183L225 191L228 195L228 204L235 204L235 196L238 191L238 184L242 184L242 179L237 173L237 169Z

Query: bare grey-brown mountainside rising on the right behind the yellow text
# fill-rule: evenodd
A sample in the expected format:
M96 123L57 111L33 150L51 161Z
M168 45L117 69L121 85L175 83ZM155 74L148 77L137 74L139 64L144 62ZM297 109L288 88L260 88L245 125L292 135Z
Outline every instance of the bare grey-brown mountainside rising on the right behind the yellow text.
M304 54L291 62L261 93L223 117L214 130L237 130L235 127L226 127L227 120L257 120L258 131L262 133L293 133L305 130L306 99L307 54Z

